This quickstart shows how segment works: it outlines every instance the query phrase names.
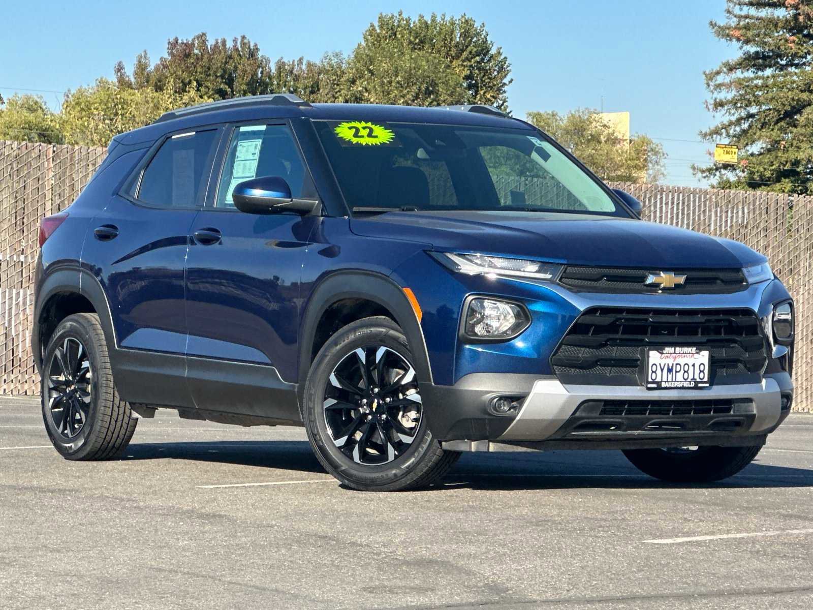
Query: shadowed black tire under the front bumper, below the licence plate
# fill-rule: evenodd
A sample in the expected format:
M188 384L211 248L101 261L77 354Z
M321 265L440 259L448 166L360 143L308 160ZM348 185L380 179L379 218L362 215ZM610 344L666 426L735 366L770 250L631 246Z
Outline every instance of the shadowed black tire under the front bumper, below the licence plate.
M762 445L694 450L632 449L624 451L624 455L641 472L661 481L710 483L740 472L760 449Z

